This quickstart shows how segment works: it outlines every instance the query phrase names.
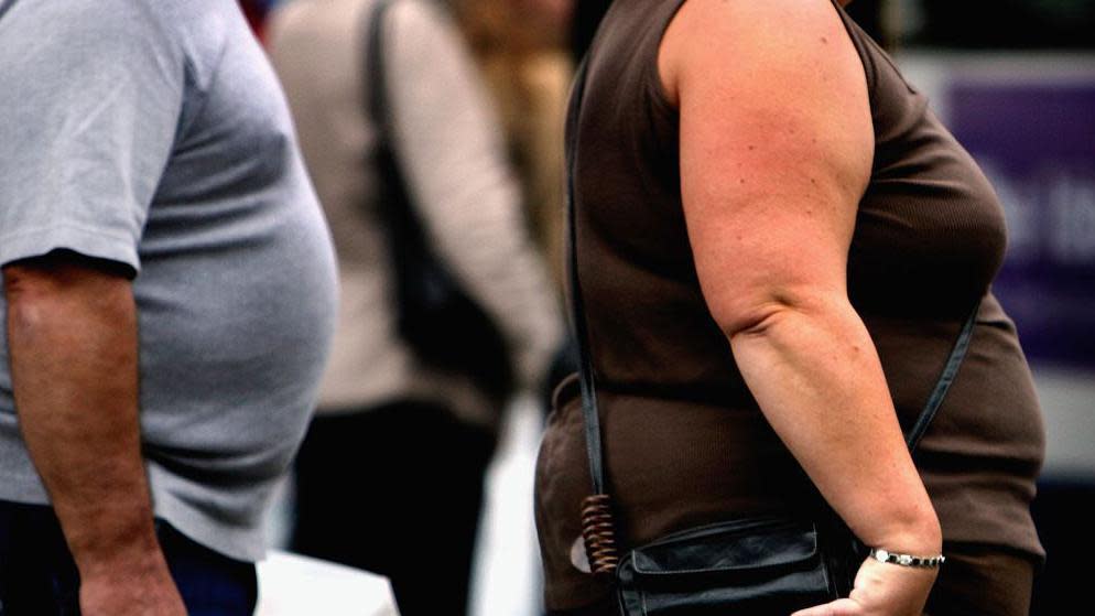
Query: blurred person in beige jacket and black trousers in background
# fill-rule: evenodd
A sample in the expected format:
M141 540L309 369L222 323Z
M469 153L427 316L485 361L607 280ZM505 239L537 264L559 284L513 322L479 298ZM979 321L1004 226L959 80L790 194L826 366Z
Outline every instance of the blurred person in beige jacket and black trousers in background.
M391 145L426 235L497 323L521 388L543 378L561 318L459 32L433 2L391 2L378 85L366 57L376 4L297 0L268 30L332 223L343 291L319 412L296 466L292 547L389 576L404 616L459 615L500 409L400 335L380 202L393 179L375 166L372 88L386 93Z

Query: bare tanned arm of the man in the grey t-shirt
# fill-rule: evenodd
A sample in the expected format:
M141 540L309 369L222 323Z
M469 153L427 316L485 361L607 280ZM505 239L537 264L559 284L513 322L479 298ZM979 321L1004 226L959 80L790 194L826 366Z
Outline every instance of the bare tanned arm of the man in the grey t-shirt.
M84 614L185 614L141 457L126 273L64 251L3 268L15 407L80 572Z

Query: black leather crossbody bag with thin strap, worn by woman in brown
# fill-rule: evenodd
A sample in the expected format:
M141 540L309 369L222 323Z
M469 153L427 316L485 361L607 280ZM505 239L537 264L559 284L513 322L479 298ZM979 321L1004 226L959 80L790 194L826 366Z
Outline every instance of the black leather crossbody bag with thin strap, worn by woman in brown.
M593 496L582 507L590 570L611 576L624 616L785 616L846 597L866 550L817 495L815 510L690 528L628 550L617 548L606 489L597 390L577 264L574 161L586 65L578 68L566 120L570 311L581 361L582 408ZM969 314L920 418L906 434L914 451L939 411L973 336Z

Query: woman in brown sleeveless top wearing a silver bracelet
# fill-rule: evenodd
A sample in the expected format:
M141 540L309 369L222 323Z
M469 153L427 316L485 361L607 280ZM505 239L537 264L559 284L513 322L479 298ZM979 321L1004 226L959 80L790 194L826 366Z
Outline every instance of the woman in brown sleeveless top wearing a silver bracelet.
M936 580L868 560L850 599L800 615L1026 614L1044 442L989 291L1004 217L925 98L828 0L617 0L578 114L575 249L625 547L801 506L812 482L865 544L947 561ZM978 301L914 465L902 426ZM579 407L572 379L538 466L546 603L612 614L572 558Z

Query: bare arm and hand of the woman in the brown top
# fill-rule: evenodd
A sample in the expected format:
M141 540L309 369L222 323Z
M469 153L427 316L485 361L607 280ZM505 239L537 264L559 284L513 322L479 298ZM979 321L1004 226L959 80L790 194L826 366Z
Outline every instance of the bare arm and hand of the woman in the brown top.
M701 287L766 419L868 545L937 554L939 520L846 289L874 131L828 0L691 0L659 58L681 117ZM920 614L934 571L867 561L852 599L803 614Z

